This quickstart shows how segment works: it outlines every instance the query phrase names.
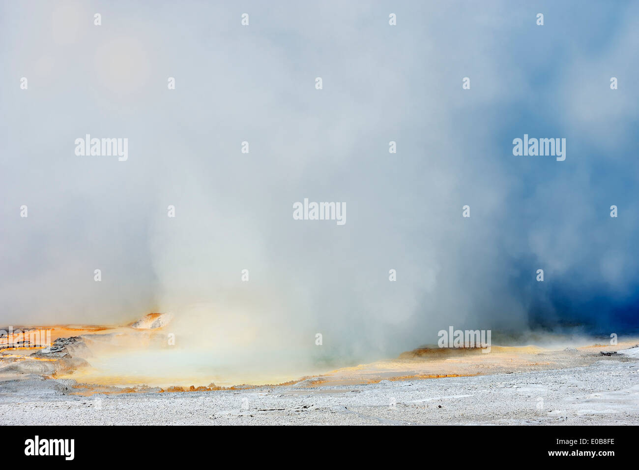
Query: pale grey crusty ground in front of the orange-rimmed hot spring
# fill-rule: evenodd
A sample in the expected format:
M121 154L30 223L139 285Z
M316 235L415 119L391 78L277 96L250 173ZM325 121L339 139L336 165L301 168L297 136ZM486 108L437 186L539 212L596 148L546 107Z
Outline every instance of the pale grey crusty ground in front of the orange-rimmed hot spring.
M72 380L26 375L0 382L0 424L638 425L639 348L620 353L474 377L90 397L68 395Z

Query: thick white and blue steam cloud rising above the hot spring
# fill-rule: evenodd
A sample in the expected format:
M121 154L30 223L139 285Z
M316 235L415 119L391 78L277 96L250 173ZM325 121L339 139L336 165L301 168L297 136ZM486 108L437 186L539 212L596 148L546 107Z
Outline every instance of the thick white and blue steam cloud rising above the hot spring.
M3 323L172 311L198 347L314 360L637 326L637 4L0 8ZM75 155L86 134L127 161ZM293 219L304 198L346 223Z

